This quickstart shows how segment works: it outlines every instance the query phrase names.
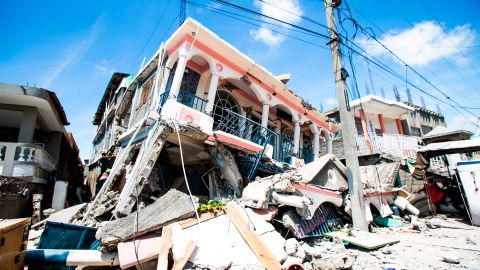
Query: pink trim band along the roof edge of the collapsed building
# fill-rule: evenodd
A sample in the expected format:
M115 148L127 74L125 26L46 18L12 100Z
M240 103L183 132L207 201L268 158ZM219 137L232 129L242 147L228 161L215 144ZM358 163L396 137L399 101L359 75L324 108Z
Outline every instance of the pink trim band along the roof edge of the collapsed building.
M188 43L192 43L193 42L193 37L185 34L183 38L181 38L177 44L175 44L171 50L168 51L168 55L170 56L171 54L173 54L173 52L175 50L177 50L184 42L188 42ZM208 46L206 46L205 44L201 43L200 41L198 40L195 40L195 47L197 47L198 49L204 51L205 53L209 54L210 56L212 56L213 58L216 58L219 62L221 62L222 64L224 65L227 65L228 67L230 67L231 69L235 70L236 72L240 73L240 74L247 74L246 70L242 69L241 67L237 66L235 63L233 63L232 61L228 60L227 58L223 57L222 55L220 55L219 53L215 52L214 50L210 49ZM248 76L248 75L247 75ZM266 85L265 83L263 82L260 82L258 81L257 79L251 77L251 76L248 76L249 79L254 82L255 84L261 86L264 90L266 90L268 93L270 94L273 94L274 89L269 86L269 85ZM294 108L298 113L300 114L303 114L304 113L304 110L303 108L300 108L299 106L297 106L295 103L293 103L289 98L283 96L281 93L276 93L276 97L278 99L280 99L281 101L283 101L285 104L287 104L288 106ZM318 124L319 126L322 126L323 128L331 131L330 129L330 126L322 121L321 119L318 119L318 118L315 118L311 115L307 115L306 116L308 119L310 119L312 122L315 122L316 124Z

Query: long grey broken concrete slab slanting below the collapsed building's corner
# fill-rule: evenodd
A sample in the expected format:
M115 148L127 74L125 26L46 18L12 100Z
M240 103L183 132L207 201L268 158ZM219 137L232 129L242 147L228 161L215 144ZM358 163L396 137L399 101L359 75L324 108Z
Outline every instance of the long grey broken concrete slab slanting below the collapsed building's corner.
M193 198L196 204L198 198ZM195 210L187 194L171 189L144 209L108 222L97 231L96 238L103 245L114 245L123 240L157 231L175 221L192 217L195 215Z

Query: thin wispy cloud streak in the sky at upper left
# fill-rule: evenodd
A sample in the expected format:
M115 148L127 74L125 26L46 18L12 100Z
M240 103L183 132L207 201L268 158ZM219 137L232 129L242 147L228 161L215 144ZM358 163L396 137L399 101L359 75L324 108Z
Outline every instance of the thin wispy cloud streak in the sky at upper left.
M49 88L51 84L62 74L64 70L75 63L95 42L98 36L99 28L102 24L103 16L99 17L90 27L88 34L80 41L75 41L65 51L65 54L58 60L53 68L43 75L42 87Z

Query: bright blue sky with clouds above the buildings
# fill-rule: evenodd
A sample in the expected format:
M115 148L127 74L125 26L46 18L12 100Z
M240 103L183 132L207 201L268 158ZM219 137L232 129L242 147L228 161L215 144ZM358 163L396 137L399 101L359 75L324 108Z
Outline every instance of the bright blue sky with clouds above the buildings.
M240 14L212 1L192 1ZM322 1L265 0L290 13L265 2L235 2L327 34L324 28L292 14L325 24ZM418 0L349 0L348 3L353 18L360 25L371 27L379 40L439 89L463 106L480 107L478 1L461 0L453 4L451 1L423 0L428 10ZM81 156L88 158L95 135L91 120L112 72L135 73L143 58L153 55L161 41L177 27L179 4L177 0L4 0L0 3L0 10L0 81L28 83L55 91L71 122L67 129L73 132ZM260 22L247 24L192 5L188 5L187 15L272 73L292 74L289 87L312 105L320 107L322 104L325 110L336 105L331 56L325 47L327 40ZM344 22L344 27L353 34L352 24ZM271 32L269 28L281 34ZM392 70L405 74L403 64L371 40L359 33L355 42ZM360 93L365 95L366 84L372 91L366 62L354 57L353 63ZM383 88L387 97L393 98L392 87L396 85L405 97L404 81L393 79L374 66L371 66L371 72L377 94ZM425 91L444 99L412 72L408 73L408 78ZM420 92L411 91L414 102L420 104ZM423 96L427 107L436 110L439 102ZM473 116L465 112L459 115L442 104L441 110L449 127L475 131ZM478 109L471 111L480 115Z

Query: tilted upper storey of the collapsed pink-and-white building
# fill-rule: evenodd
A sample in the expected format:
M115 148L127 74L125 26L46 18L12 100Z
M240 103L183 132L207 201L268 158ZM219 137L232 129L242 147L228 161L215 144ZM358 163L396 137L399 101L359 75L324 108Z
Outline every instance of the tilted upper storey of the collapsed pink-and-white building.
M322 145L331 149L331 124L288 89L289 78L272 75L187 19L138 74L113 74L94 117L98 129L91 161L98 165L101 153L115 156L122 151L135 127L158 113L162 119L190 123L209 135L207 141L182 135L186 159L193 167L205 166L202 153L215 140L239 152L260 151L292 165L302 159L310 162L319 156ZM142 129L136 140L147 131ZM160 157L178 166L177 139L169 136L167 142ZM102 172L95 166L90 169L93 184Z

